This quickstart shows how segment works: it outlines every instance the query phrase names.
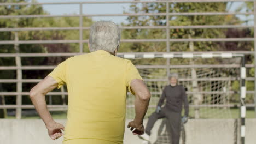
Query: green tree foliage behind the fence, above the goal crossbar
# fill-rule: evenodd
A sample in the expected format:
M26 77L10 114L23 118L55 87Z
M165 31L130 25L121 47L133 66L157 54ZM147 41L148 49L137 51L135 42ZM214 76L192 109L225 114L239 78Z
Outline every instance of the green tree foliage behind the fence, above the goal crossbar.
M188 13L202 11L225 11L226 3L170 3L169 13ZM132 4L130 13L166 13L166 4L148 3ZM224 25L228 22L221 15L205 16L170 16L170 26L188 25ZM233 17L234 18L234 17ZM166 16L129 16L128 24L123 26L166 26ZM165 39L166 29L132 29L123 31L124 39ZM170 29L171 39L188 38L220 38L225 37L221 29ZM170 43L171 51L190 51L188 43ZM212 42L194 43L195 51L214 51L219 45ZM133 52L162 52L166 51L165 43L156 43L156 46L147 43L132 43L121 46L121 50Z

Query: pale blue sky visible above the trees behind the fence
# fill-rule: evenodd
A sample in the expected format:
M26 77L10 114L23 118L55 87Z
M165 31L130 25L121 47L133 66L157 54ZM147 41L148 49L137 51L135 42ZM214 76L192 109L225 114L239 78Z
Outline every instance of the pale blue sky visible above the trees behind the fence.
M50 0L37 0L40 3L53 2ZM88 1L88 0L87 0ZM91 0L89 0L91 2ZM110 1L110 0L97 0L97 1ZM113 1L113 0L112 0ZM118 0L114 0L118 1ZM124 1L124 0L123 0ZM55 0L54 2L72 2L71 0ZM74 1L74 2L86 2L86 0ZM230 4L230 3L229 3ZM230 11L235 11L242 2L234 2L230 8ZM83 14L122 14L123 11L129 9L129 3L124 4L83 4ZM78 4L62 4L62 5L43 5L43 8L51 15L63 15L63 14L79 14ZM242 10L245 12L245 9ZM246 17L245 15L237 15L241 20L253 19L253 16ZM112 17L92 17L94 21L98 20L110 20L115 23L126 23L126 16L112 16ZM253 21L247 23L247 25L253 25Z

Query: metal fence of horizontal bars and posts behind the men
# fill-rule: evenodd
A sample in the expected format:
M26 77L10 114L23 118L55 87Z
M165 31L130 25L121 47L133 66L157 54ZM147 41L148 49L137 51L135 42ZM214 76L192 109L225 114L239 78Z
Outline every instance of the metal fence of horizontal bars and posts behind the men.
M198 12L198 13L170 13L170 3L173 2L254 2L254 12ZM103 3L165 3L166 4L166 13L137 13L137 14L83 14L83 5L85 4L103 4ZM29 92L22 92L22 83L24 82L39 82L40 79L22 79L22 70L45 70L45 69L54 69L54 66L22 66L21 65L21 57L55 57L55 56L74 56L80 55L83 52L83 44L88 43L88 40L83 39L83 30L89 29L89 27L83 26L83 18L84 17L95 17L95 16L166 16L166 26L132 26L132 27L120 27L121 29L165 29L166 30L166 38L165 39L122 39L121 42L126 43L134 43L134 42L164 42L166 43L166 52L168 54L175 54L177 52L170 52L170 42L198 42L198 41L254 41L254 48L256 47L256 2L254 0L170 0L170 1L108 1L108 2L52 2L52 3L0 3L1 6L6 5L56 5L56 4L77 4L79 5L79 14L72 15L0 15L0 19L21 19L21 18L34 18L34 17L79 17L79 27L27 27L27 28L0 28L0 32L14 32L15 40L3 40L0 41L1 45L14 45L16 53L0 53L0 57L15 57L16 66L0 66L0 70L16 70L17 77L16 79L0 79L1 83L17 83L17 91L16 92L0 92L0 95L16 95L16 105L0 105L0 109L2 108L15 108L16 109L16 118L21 118L21 109L33 109L33 105L22 105L22 95L29 95ZM181 16L181 15L254 15L254 26L245 26L245 25L214 25L214 26L170 26L169 20L170 16ZM193 29L201 29L201 28L254 28L254 38L200 38L200 39L171 39L170 38L170 29L179 29L179 28L193 28ZM20 31L49 31L49 30L78 30L79 31L79 39L78 40L19 40L18 33ZM60 43L78 43L79 44L79 52L78 53L20 53L19 45L20 44L60 44ZM255 49L254 49L255 50ZM119 56L123 56L124 54L135 54L141 55L142 53L118 53ZM151 54L160 55L163 52L154 52ZM200 55L201 53L207 52L184 52L191 53L193 55ZM220 52L211 52L211 53L220 53ZM222 52L222 53L230 53ZM244 55L255 55L256 51L252 53L251 51L231 51L231 53L240 53ZM256 59L255 59L256 63ZM187 67L187 68L207 68L207 67L230 67L230 68L239 68L240 65L170 65L170 58L167 58L166 65L137 65L138 68L166 68L167 75L170 73L170 68L175 67ZM246 68L255 68L254 64L246 64ZM225 79L225 78L223 78ZM236 79L233 77L232 79ZM254 81L256 79L256 71L255 77L247 77L247 81ZM186 79L188 80L188 79ZM200 80L200 79L190 79ZM150 80L148 80L150 81ZM159 80L160 81L160 80ZM163 80L165 81L165 80ZM256 83L255 83L256 86ZM193 93L193 92L188 92ZM231 92L232 93L232 92ZM255 94L255 91L247 91L247 94ZM49 92L48 95L67 95L67 92ZM255 95L256 99L256 95ZM235 105L229 105L235 106ZM247 106L253 107L254 104L247 104ZM59 107L59 108L67 108L66 105L48 105L48 107Z

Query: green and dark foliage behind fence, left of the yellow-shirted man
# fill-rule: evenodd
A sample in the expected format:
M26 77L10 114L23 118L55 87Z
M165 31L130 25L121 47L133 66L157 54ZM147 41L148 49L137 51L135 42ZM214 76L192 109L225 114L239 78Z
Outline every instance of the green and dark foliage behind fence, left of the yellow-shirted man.
M11 3L31 2L28 0L4 1ZM33 1L36 2L36 1ZM18 5L18 6L0 6L1 15L49 15L42 5ZM91 26L92 19L83 18L83 26ZM1 28L24 28L24 27L79 27L78 17L47 17L47 18L22 18L22 19L0 19ZM78 40L79 31L18 31L19 40ZM15 32L0 32L0 40L14 40ZM84 31L84 39L89 38L89 31ZM20 53L47 53L47 52L78 52L79 44L21 44ZM88 52L88 50L86 50ZM14 45L0 45L0 53L15 53ZM58 57L22 57L22 65L57 65L63 61ZM14 57L0 58L0 65L16 65ZM8 73L8 74L7 74ZM22 70L24 79L40 79L49 71L43 70ZM15 70L0 71L1 79L15 79ZM32 74L32 75L31 75ZM29 85L28 85L29 84ZM36 83L23 83L26 85L22 91L30 91ZM15 91L15 83L4 83L1 85L2 91ZM8 99L8 103L13 103L14 97ZM11 102L12 101L12 102ZM9 103L10 102L10 103ZM15 103L15 101L14 101ZM24 104L29 104L30 100L25 98Z

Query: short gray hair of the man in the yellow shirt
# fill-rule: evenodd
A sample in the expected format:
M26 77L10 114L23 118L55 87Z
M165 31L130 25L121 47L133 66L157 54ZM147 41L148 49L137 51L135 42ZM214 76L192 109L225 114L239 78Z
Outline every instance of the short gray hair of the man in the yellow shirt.
M104 50L114 53L120 44L120 30L114 22L97 21L90 28L90 52Z

